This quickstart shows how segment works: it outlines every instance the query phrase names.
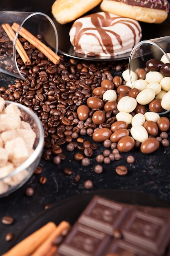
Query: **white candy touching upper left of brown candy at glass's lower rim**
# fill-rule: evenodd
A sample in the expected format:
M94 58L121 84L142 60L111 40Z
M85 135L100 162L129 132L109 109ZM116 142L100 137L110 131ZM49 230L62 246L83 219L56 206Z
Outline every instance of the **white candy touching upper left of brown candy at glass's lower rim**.
M137 94L136 100L141 105L150 103L155 98L155 91L151 88L146 88Z

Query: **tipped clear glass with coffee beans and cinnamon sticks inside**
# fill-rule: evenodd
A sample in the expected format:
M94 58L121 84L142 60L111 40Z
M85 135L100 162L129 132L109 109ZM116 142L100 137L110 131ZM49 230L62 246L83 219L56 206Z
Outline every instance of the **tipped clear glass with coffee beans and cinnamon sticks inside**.
M14 24L17 24L15 29L13 28ZM29 59L31 49L29 54L25 54L26 50L29 49L29 44L24 46L25 52L21 47L23 44L20 46L21 39L19 41L19 38L21 38L22 29L29 32L31 39L40 38L43 47L48 47L46 52L49 52L50 49L51 55L53 53L57 55L58 35L53 20L45 13L0 11L0 72L25 79L23 66L31 64ZM39 42L37 44L40 46ZM24 65L20 60L22 55Z

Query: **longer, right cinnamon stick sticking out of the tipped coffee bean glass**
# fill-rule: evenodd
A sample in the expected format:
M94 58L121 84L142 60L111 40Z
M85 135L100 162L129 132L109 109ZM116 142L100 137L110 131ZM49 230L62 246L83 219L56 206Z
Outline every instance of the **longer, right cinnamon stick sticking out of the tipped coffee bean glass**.
M18 31L20 25L16 22L13 23L12 29L16 32ZM20 36L25 38L29 43L35 46L40 52L42 52L50 61L54 64L58 64L60 62L60 56L55 54L49 47L47 47L44 43L42 43L38 38L33 36L28 30L21 27L19 31Z

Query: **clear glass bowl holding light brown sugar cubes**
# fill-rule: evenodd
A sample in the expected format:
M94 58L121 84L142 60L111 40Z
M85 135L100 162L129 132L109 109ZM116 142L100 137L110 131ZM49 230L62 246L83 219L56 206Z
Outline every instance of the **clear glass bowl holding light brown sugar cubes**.
M43 144L44 144L44 131L38 116L35 115L35 113L29 108L23 106L20 103L15 103L13 101L5 101L4 108L6 108L9 104L15 104L16 106L18 106L18 109L21 112L21 115L20 115L20 120L22 122L21 134L23 132L23 135L26 136L24 140L26 142L25 145L27 144L28 142L27 139L29 137L29 134L32 131L33 131L34 138L32 140L33 146L31 149L29 149L29 157L26 159L23 158L25 161L22 162L21 165L14 167L11 172L8 170L6 172L6 174L8 173L7 175L3 174L3 171L4 171L3 166L0 166L0 198L5 197L10 193L12 193L13 191L19 189L27 180L29 180L29 178L35 171L35 168L38 166L40 162L40 158L42 156ZM29 123L29 125L27 125L26 123ZM1 121L1 124L2 124L2 121ZM26 135L24 133L23 128L28 129L26 130ZM29 129L31 129L30 132L29 132ZM3 132L1 131L0 137L2 137L2 133ZM6 145L7 144L5 144L5 146ZM6 149L5 146L4 146L4 149ZM9 143L8 149L10 148L10 146L11 144ZM22 146L22 143L20 144L20 146ZM12 150L12 148L10 150ZM11 154L16 154L17 150L18 148L17 149L15 148L15 150L11 151ZM22 151L21 148L19 148L19 151ZM8 163L10 163L11 160L7 160L7 161ZM11 165L9 164L9 166ZM5 165L4 165L4 168L6 168Z

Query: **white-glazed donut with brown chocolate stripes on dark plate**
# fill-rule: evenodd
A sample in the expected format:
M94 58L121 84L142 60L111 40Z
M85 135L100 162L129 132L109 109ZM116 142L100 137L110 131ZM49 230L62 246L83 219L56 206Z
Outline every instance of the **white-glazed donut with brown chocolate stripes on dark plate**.
M98 12L77 19L69 32L75 52L115 56L130 52L141 39L139 22Z

